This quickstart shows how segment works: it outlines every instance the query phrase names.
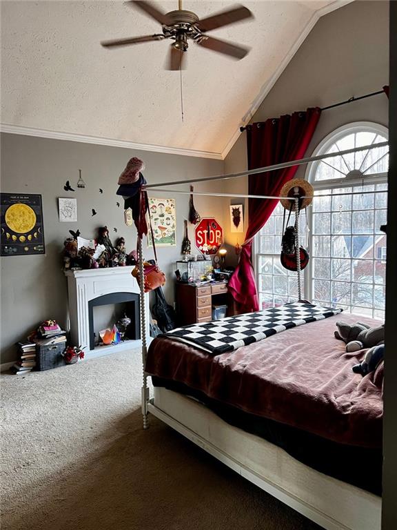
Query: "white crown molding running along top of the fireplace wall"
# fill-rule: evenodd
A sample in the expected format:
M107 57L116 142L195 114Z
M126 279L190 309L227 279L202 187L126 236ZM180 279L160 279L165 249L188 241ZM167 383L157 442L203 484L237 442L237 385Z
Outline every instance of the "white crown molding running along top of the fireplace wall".
M35 136L52 140L79 141L83 144L96 144L99 146L121 147L141 151L152 151L154 153L165 153L166 155L180 155L183 157L199 157L223 160L222 153L212 153L211 151L199 151L194 149L184 149L180 147L156 146L153 144L139 144L135 141L78 135L74 133L60 133L56 130L37 129L33 127L23 127L19 125L0 124L0 132L8 133L10 135Z

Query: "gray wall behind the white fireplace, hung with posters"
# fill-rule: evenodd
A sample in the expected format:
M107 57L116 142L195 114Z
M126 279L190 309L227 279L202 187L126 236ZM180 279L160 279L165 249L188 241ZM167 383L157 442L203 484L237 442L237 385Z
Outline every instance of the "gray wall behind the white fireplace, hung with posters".
M14 360L14 342L26 337L42 320L55 318L65 325L67 289L61 271L61 253L63 241L69 237L68 230L79 228L83 237L91 238L96 236L96 228L106 224L112 240L122 235L128 251L136 248L135 229L124 225L123 200L115 195L119 175L132 156L145 161L144 175L151 183L223 173L220 160L1 135L1 190L42 195L46 249L45 255L1 257L1 362ZM83 189L75 186L79 168L86 184ZM63 190L66 180L70 180L75 193ZM218 186L210 189L216 190ZM103 194L99 193L99 188L103 188ZM207 188L198 185L196 189ZM165 193L152 195L173 197ZM59 222L58 197L77 197L77 223ZM170 302L174 300L174 262L181 257L183 218L187 218L189 197L178 195L175 199L176 247L158 249L161 268L167 274L165 294ZM117 208L116 201L121 202L121 208ZM222 201L216 197L198 197L195 204L202 216L216 217L224 224ZM91 208L97 212L94 217ZM118 228L117 233L113 227ZM152 249L147 249L147 257L152 257Z

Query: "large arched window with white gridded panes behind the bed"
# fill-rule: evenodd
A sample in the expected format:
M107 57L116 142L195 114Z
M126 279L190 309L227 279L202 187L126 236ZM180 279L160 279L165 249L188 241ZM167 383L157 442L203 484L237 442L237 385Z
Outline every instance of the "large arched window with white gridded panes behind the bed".
M348 124L327 136L313 155L378 144L387 128L370 122ZM383 319L385 315L388 148L363 150L316 161L305 178L314 187L312 205L301 213L301 244L310 261L303 271L303 296ZM377 193L375 193L377 192ZM340 195L343 194L343 195ZM280 203L256 235L256 277L261 308L297 300L296 273L280 263L283 235ZM289 224L294 223L294 216Z

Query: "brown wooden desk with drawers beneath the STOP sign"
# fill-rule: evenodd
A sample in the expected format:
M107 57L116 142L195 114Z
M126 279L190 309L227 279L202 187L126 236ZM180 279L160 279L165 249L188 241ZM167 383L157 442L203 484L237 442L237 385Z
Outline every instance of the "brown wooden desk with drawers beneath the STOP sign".
M227 283L213 284L176 284L176 314L179 326L210 322L212 305L227 305Z

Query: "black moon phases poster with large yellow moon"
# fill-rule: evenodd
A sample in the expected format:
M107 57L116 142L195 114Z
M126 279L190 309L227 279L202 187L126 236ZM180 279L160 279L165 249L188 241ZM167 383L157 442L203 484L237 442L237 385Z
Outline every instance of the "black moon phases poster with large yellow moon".
M1 193L1 255L44 254L41 195Z

